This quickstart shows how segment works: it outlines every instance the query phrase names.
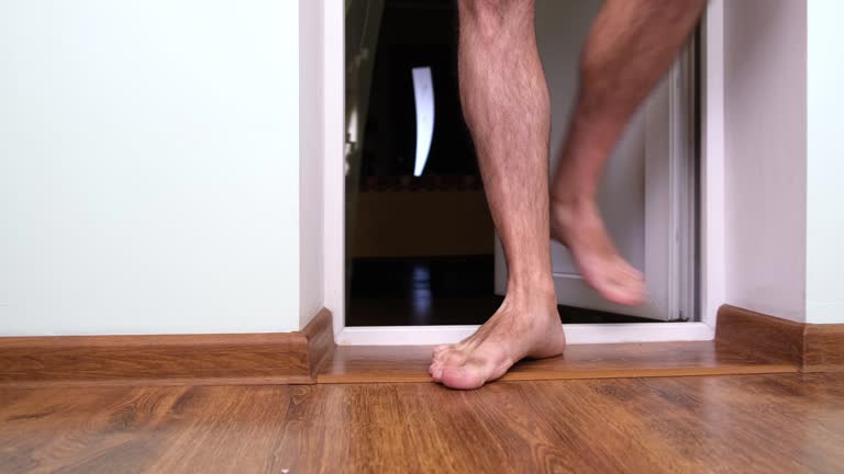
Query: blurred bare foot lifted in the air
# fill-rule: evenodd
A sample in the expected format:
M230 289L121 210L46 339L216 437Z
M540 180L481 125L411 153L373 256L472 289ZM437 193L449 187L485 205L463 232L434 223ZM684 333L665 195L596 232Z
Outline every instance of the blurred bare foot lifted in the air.
M615 249L595 203L551 202L551 234L568 247L580 274L607 300L635 306L645 301L642 273Z

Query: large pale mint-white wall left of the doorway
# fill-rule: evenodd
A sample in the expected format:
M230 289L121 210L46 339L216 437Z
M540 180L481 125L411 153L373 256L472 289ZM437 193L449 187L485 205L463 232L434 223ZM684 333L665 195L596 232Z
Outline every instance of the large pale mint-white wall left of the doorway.
M0 335L298 328L298 18L0 1Z

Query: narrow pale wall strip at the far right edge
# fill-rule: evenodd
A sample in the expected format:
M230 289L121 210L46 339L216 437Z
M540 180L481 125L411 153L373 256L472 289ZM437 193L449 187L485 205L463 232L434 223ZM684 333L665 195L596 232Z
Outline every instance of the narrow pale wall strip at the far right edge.
M844 49L840 0L808 1L807 321L844 323Z

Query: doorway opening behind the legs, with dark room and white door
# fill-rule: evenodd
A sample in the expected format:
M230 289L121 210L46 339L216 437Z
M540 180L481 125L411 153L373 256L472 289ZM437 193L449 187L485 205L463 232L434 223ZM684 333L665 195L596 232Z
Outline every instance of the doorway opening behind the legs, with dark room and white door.
M537 0L552 167L600 4ZM507 270L460 110L456 2L349 0L345 23L345 326L482 324ZM632 122L599 198L652 297L633 308L602 301L553 244L565 324L698 320L697 44Z

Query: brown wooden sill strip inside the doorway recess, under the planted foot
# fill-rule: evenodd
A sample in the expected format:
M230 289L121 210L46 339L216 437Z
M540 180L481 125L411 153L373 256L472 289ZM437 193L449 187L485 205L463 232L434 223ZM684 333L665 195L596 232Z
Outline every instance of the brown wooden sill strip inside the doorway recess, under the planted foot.
M431 347L337 347L318 383L427 382ZM798 372L793 363L715 341L569 346L551 359L522 361L504 381L731 375Z

